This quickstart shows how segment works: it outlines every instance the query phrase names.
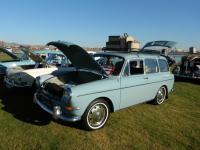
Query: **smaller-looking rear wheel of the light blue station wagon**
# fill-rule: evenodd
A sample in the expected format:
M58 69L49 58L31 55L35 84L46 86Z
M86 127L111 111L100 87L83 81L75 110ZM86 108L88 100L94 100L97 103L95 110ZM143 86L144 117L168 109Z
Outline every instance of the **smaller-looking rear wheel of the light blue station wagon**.
M167 96L167 89L165 86L162 86L159 88L154 100L153 100L153 103L155 105L160 105L162 104L165 99L166 99L166 96Z

